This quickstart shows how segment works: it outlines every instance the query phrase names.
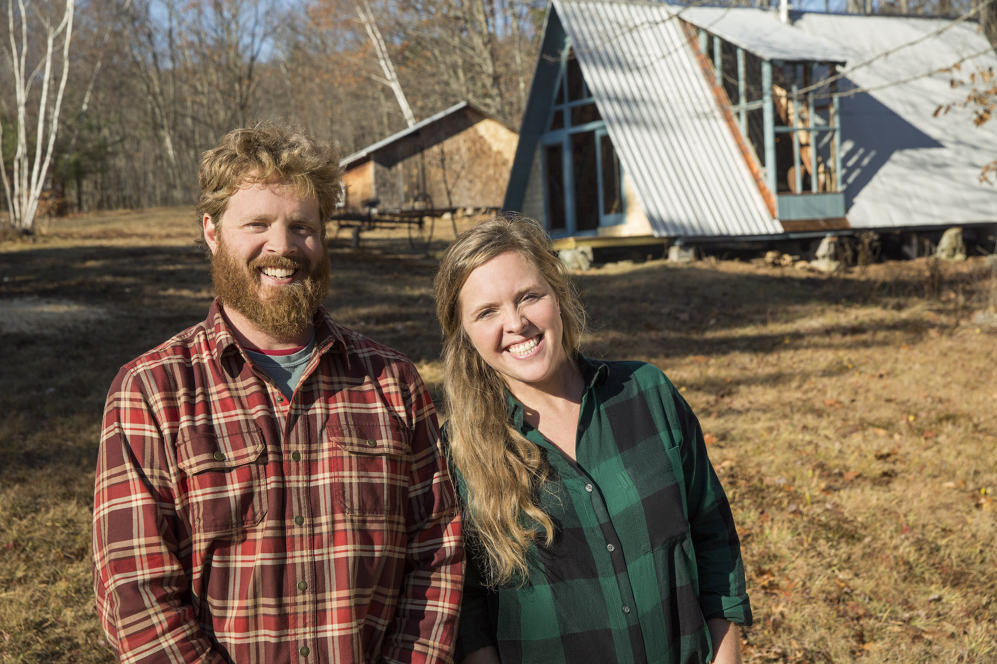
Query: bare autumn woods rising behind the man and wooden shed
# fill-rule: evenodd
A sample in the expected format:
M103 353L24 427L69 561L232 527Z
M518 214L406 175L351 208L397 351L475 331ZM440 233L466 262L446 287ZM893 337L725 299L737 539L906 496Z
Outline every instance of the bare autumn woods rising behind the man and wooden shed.
M997 33L994 0L842 2L828 9L958 15L975 7ZM38 214L189 203L200 154L229 130L272 117L336 141L344 154L368 146L411 123L371 24L416 120L468 100L517 127L546 5L0 0L0 195L13 200L15 182L37 190Z

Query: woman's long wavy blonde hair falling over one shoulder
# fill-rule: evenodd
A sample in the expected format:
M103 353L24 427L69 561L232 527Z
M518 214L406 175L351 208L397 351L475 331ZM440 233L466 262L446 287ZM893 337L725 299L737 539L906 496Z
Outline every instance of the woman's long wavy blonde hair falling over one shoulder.
M494 216L461 233L444 253L434 281L443 326L444 395L450 415L451 461L464 477L465 522L486 554L485 580L502 585L528 578L526 552L554 524L538 505L548 465L540 449L508 418L505 383L475 350L461 320L461 289L477 267L515 251L547 280L557 297L568 358L579 348L585 316L563 264L543 228L532 219Z

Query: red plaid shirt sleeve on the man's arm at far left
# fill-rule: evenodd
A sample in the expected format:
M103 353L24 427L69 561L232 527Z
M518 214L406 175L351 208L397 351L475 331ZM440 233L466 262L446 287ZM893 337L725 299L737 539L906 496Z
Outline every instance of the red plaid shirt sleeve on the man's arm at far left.
M108 395L94 495L94 589L122 662L220 663L202 634L176 557L171 463L139 379Z

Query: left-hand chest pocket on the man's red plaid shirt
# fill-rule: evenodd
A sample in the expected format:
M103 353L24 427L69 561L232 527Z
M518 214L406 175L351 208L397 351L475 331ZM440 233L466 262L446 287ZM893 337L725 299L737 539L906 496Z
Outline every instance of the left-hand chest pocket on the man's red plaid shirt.
M260 522L267 508L265 449L259 430L181 435L177 465L195 537Z

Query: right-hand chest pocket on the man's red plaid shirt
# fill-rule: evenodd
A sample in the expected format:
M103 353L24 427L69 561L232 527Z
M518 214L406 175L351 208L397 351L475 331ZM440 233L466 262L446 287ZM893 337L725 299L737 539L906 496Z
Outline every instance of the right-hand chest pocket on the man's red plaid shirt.
M408 431L392 419L331 422L332 470L338 506L346 514L385 518L400 514L408 495Z

